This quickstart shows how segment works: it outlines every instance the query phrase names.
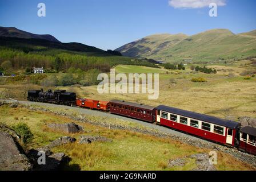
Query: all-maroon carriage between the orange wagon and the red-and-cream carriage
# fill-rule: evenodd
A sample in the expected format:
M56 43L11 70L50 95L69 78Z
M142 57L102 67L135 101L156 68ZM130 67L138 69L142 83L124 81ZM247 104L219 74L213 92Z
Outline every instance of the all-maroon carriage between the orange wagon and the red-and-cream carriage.
M124 115L130 118L141 119L147 122L154 122L154 108L143 104L111 100L110 113Z

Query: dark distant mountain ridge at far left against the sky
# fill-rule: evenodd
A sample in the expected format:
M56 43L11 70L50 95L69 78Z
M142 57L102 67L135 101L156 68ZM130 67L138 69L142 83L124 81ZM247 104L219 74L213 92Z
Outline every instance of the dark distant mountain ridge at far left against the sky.
M30 32L19 30L15 27L0 27L0 36L9 38L24 38L24 39L45 39L51 42L59 42L52 35L37 35L31 34Z

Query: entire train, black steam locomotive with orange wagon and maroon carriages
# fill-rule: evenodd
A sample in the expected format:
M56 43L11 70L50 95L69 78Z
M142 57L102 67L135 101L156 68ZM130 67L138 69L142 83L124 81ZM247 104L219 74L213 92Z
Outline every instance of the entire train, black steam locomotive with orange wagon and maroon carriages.
M213 142L237 147L241 151L256 155L256 129L249 126L241 128L241 123L238 122L163 105L153 107L119 100L106 102L85 98L75 100L75 93L69 93L66 90L56 90L53 93L54 97L51 96L51 99L49 99L46 96L49 93L51 91L46 92L44 94L45 97L43 97L42 90L30 90L27 99L37 102L51 102L71 106L77 105L79 107L109 111L112 114L123 115L150 123L155 122L161 126L192 134ZM55 97L55 93L57 97ZM59 97L59 93L65 93L65 96L68 96L65 97L65 101L63 101L62 96ZM66 100L70 104L67 104Z

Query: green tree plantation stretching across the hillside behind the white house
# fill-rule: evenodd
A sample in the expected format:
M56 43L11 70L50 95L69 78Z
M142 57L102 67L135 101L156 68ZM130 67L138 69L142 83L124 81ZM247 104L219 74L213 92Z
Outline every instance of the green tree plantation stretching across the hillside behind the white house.
M41 49L42 51L40 51ZM0 65L4 71L43 67L57 72L67 72L69 68L73 67L75 69L80 68L82 71L98 69L101 72L109 72L110 68L117 64L157 67L157 65L146 60L131 60L129 57L122 56L90 56L59 49L44 51L42 47L39 47L38 51L26 53L20 49L0 47Z

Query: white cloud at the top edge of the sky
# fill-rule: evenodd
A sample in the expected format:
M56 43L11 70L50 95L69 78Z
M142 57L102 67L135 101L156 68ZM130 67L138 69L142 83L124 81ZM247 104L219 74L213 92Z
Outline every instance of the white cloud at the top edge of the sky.
M225 6L226 0L169 0L170 6L181 9L208 7L210 3L216 3L218 6Z

